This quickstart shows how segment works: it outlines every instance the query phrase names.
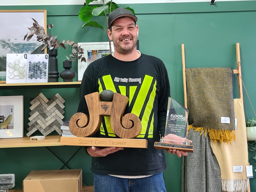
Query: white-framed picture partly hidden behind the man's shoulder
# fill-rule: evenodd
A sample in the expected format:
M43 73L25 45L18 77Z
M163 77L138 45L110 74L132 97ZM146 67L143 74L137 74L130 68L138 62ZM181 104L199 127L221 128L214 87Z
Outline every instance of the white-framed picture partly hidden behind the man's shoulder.
M96 59L104 57L109 54L108 42L92 42L92 43L78 43L84 49L85 62L78 60L78 81L82 81L84 71L90 63ZM111 42L111 51L114 52L114 45Z

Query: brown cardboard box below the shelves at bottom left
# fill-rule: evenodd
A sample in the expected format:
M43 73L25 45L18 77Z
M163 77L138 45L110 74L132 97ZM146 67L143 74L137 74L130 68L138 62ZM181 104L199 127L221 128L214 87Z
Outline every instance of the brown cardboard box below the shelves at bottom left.
M23 192L81 192L82 169L31 171Z

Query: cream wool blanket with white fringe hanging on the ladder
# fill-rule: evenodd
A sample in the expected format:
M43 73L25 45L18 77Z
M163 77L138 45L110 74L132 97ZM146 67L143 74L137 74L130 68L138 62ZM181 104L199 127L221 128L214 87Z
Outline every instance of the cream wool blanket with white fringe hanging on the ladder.
M211 142L212 151L220 165L222 191L246 192L249 179L246 176L248 163L248 146L244 107L241 99L234 99L236 125L236 141L232 145ZM233 172L233 166L243 166L243 172Z

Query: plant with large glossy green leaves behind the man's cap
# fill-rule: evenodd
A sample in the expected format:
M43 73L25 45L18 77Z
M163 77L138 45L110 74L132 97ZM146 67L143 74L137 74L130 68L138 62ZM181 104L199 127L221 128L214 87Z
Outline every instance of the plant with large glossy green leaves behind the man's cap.
M107 14L110 14L112 11L119 8L119 6L116 3L114 3L112 0L109 1L108 3L105 3L104 0L101 0L103 5L95 5L95 4L89 5L93 1L96 1L96 0L86 0L86 4L79 12L79 15L78 15L79 19L85 22L82 28L84 28L85 26L96 27L104 30L107 33L109 29ZM132 11L133 14L135 15L134 10L132 8L126 7L125 9ZM99 23L97 23L97 21L92 21L93 16L106 17L107 29L104 29L104 27ZM109 42L109 53L112 53L111 41L109 38L108 38L108 42Z

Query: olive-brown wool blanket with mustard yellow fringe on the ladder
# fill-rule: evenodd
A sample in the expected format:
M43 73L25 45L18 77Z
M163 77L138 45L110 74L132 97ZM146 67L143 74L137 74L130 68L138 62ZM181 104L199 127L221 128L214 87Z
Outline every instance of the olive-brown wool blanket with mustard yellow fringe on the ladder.
M211 140L235 140L232 68L186 68L189 128Z

